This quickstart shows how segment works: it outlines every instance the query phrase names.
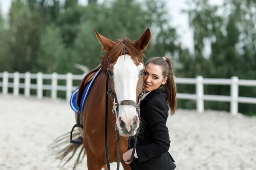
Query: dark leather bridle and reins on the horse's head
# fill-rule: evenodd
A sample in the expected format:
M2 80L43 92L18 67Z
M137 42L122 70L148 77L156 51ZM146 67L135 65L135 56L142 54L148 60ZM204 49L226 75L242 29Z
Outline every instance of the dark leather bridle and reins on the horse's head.
M125 51L125 54L129 54L128 51ZM108 156L108 96L111 97L111 100L113 102L113 108L112 108L112 112L113 114L116 116L116 120L118 118L118 111L117 111L117 107L119 105L131 105L134 106L136 108L137 111L137 116L140 117L140 102L142 100L143 97L143 93L144 93L144 85L142 88L142 93L139 96L139 102L138 104L132 100L122 100L119 103L116 103L116 99L113 96L112 92L111 92L111 87L109 85L109 73L108 73L108 61L109 61L109 57L107 59L106 62L106 75L107 75L107 82L106 82L106 103L105 103L105 153L106 153L106 159L107 159L107 168L108 170L110 170L110 163L109 163L109 156ZM118 127L117 125L115 126L115 130L116 130L116 142L117 142L117 167L116 170L119 170L119 165L120 165L120 156L119 156L119 131L118 131ZM134 148L137 145L137 134L135 135L135 143L134 143ZM131 137L128 138L128 150L131 149ZM135 153L135 149L132 151L131 153L131 159L128 160L127 162L132 162L133 158L134 158L134 153Z

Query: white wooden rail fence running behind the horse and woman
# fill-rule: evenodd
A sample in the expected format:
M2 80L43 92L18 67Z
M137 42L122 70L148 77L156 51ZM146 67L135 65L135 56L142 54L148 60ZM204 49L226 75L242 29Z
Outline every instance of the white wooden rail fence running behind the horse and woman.
M43 90L51 91L51 98L57 98L57 91L66 91L66 99L70 100L72 91L77 87L73 86L73 80L81 80L84 75L68 74L31 74L27 73L0 73L0 87L2 87L3 95L8 94L8 88L13 88L13 95L19 95L19 89L24 89L24 95L30 96L30 89L37 90L38 99L42 99ZM9 78L13 79L13 82L9 82ZM20 79L24 79L25 83L20 83ZM36 84L31 84L31 79L36 79ZM44 85L43 79L50 79L51 85ZM65 80L66 85L58 85L58 80ZM256 86L256 80L244 80L238 79L238 77L232 77L231 79L205 79L202 76L193 78L175 78L176 84L194 84L196 85L196 94L183 94L177 93L178 99L192 99L196 100L196 108L199 113L204 112L204 101L222 101L230 102L230 112L233 115L238 113L238 103L250 103L256 104L256 97L241 97L238 94L240 86ZM207 95L204 94L204 85L230 85L230 96L220 95Z

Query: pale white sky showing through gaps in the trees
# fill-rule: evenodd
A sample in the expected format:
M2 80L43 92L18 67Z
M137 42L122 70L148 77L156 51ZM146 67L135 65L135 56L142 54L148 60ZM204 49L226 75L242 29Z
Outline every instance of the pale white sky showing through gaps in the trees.
M102 3L104 0L98 0ZM143 0L140 0L143 1ZM177 28L177 33L180 35L179 41L183 48L189 48L189 51L193 54L193 31L189 28L189 18L187 14L182 14L181 9L187 8L186 0L164 0L166 2L166 8L171 16L169 22L172 26ZM12 0L0 0L1 12L6 15L11 6ZM209 0L211 4L221 5L223 0ZM87 0L79 0L80 4L87 4ZM205 55L210 53L209 45L205 48Z

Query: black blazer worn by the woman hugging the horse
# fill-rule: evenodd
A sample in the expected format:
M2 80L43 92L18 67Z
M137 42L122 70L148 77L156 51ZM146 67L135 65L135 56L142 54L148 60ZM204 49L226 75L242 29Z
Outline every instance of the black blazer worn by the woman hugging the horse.
M168 96L160 89L151 91L140 103L140 131L131 170L174 170L176 165L168 152L169 131L166 126L169 115ZM134 146L131 139L131 148Z

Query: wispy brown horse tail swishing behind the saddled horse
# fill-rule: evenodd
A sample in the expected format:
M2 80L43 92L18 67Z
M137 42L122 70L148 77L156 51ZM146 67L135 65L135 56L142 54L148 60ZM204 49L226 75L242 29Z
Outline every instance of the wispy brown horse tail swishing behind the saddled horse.
M83 140L78 130L73 131L72 139ZM70 132L57 137L50 145L49 148L55 155L56 160L60 160L59 166L63 168L70 160L78 154L74 162L73 170L82 163L86 154L83 144L70 143Z

